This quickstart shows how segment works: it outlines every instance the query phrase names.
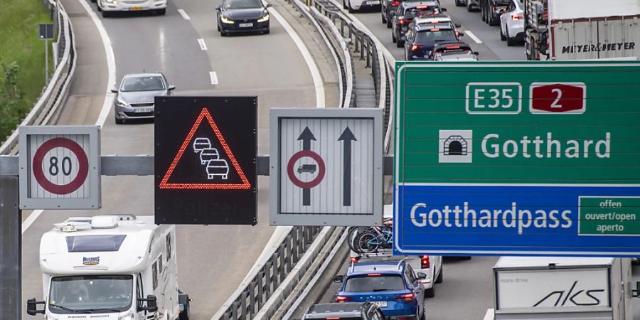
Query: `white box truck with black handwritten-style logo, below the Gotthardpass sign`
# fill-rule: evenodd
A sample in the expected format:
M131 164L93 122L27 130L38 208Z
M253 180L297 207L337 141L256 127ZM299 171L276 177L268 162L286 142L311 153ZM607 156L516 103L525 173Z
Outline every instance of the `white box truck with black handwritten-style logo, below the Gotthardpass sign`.
M494 287L496 320L634 319L629 259L501 257Z

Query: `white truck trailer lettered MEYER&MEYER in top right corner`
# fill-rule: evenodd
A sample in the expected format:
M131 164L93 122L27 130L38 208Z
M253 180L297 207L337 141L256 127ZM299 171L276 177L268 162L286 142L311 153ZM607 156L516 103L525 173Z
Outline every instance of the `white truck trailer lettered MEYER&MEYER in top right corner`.
M638 0L549 0L551 60L640 57Z

